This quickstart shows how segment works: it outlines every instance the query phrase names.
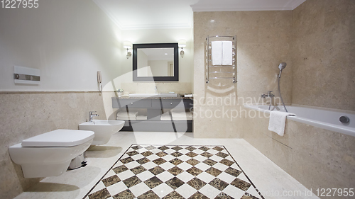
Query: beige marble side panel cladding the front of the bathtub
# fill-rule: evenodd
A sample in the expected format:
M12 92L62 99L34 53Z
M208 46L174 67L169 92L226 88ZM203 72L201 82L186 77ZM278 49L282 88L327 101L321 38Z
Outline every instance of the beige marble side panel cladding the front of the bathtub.
M246 118L244 139L315 193L355 185L355 137L287 120L285 135L268 131L268 118Z

